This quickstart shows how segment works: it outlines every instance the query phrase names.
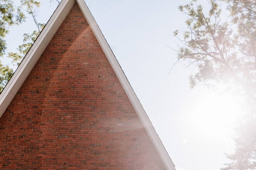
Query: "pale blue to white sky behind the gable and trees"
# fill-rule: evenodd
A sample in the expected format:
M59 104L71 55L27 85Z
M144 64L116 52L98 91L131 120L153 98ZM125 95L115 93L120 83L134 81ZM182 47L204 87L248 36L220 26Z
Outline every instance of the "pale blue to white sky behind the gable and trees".
M19 0L14 0L19 4ZM40 1L40 0L39 0ZM37 20L46 23L57 7L41 0ZM192 70L176 65L173 31L185 26L179 5L189 0L88 0L89 8L114 49L123 71L153 123L177 170L216 170L232 153L232 127L239 107L233 96L203 86L189 88ZM207 1L199 1L208 6ZM23 33L36 29L32 17L13 27L7 51L22 44ZM4 59L3 64L10 63Z

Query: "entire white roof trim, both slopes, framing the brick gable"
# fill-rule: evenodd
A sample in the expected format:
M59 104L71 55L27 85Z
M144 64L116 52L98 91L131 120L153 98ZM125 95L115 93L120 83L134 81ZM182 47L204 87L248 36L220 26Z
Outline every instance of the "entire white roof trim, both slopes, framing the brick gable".
M87 22L89 23L94 35L96 36L101 48L103 49L107 59L109 60L115 74L121 82L127 96L129 97L135 111L137 112L142 124L144 125L151 141L153 142L159 156L161 157L166 169L175 170L175 166L171 161L165 147L163 146L160 138L158 137L152 123L150 122L145 110L143 109L138 97L134 93L130 83L128 82L121 66L115 58L109 44L95 22L90 10L83 0L62 0L50 20L47 22L45 28L42 30L37 40L26 54L24 60L15 71L13 77L7 83L6 87L0 94L0 117L5 112L6 108L10 104L11 100L33 69L35 63L45 50L46 46L54 36L55 32L67 16L70 9L73 7L75 1L77 1L81 11L83 12Z

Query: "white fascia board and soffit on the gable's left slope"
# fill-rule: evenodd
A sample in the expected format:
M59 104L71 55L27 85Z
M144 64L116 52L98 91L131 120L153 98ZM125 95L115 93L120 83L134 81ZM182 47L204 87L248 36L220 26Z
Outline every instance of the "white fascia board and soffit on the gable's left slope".
M6 87L0 94L0 117L5 112L6 108L10 104L13 97L18 92L19 88L33 69L35 63L42 55L46 46L54 36L55 32L66 18L70 9L73 7L75 0L62 1L53 15L45 25L45 28L41 31L40 35L31 46L29 52L7 83Z

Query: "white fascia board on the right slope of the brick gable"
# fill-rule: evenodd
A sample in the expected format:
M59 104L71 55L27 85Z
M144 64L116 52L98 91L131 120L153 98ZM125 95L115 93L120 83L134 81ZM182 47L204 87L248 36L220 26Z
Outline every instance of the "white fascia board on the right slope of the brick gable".
M159 156L161 157L163 163L165 164L166 169L168 170L175 170L175 166L170 159L165 147L163 146L162 141L160 140L158 134L156 133L149 117L147 116L145 110L143 109L138 97L136 96L133 88L131 87L129 81L127 80L121 66L119 65L117 59L113 51L111 50L109 44L107 43L105 37L103 36L101 30L99 29L98 24L96 23L95 19L93 18L90 10L88 9L87 5L83 0L76 0L80 9L83 12L87 22L89 23L94 35L96 36L101 48L103 49L107 59L110 62L115 74L117 75L120 83L122 84L128 98L130 99L135 111L137 112L142 124L144 125L151 141L153 142Z

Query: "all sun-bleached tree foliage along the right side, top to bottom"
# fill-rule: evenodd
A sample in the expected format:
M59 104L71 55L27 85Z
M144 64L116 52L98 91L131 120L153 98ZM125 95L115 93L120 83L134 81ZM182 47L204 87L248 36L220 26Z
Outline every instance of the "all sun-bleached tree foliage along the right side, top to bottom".
M220 4L225 3L230 15L223 19ZM223 92L231 92L246 101L246 117L236 130L236 150L227 154L231 163L223 170L256 169L256 1L210 0L210 9L192 1L179 6L188 16L178 46L178 61L197 68L190 76L190 87L206 84L225 85ZM179 30L174 36L179 36ZM222 89L223 90L223 89Z

